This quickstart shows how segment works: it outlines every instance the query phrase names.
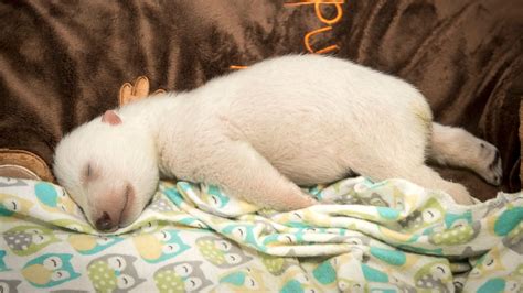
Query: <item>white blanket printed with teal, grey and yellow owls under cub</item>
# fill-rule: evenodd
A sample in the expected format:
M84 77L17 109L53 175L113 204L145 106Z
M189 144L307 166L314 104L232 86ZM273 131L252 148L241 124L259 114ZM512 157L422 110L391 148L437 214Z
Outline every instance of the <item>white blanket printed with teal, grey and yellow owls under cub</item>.
M60 186L0 178L1 292L521 292L523 193L474 206L403 180L305 189L276 213L162 182L99 235Z

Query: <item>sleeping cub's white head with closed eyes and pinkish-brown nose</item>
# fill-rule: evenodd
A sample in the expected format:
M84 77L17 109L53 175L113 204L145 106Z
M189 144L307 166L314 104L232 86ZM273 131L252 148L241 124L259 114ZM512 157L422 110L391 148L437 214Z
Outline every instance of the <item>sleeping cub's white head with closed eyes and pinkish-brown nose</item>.
M56 178L98 230L128 226L154 194L158 156L146 132L108 110L56 146Z

